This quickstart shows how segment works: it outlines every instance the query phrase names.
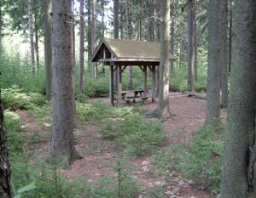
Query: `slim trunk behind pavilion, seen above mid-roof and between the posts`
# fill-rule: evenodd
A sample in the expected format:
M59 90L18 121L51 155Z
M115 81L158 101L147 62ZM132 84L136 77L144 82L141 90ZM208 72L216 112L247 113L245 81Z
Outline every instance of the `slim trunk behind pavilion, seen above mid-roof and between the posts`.
M126 26L128 32L128 39L132 39L132 26L131 26L131 8L130 8L130 0L125 0L125 15L126 15ZM133 82L132 82L132 67L129 66L129 88L133 89Z

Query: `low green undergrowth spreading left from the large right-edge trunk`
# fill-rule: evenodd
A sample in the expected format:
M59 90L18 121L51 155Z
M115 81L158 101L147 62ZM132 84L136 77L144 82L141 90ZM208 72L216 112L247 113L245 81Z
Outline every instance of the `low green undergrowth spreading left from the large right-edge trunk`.
M201 127L189 144L174 144L153 156L151 169L168 178L172 171L192 180L202 190L218 194L223 156L224 125Z

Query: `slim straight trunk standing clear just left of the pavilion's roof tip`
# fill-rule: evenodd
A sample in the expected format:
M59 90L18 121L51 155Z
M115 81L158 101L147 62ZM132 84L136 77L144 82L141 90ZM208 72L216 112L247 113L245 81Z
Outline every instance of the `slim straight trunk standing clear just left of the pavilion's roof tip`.
M79 48L79 68L80 68L80 93L84 93L84 0L80 0L80 48Z

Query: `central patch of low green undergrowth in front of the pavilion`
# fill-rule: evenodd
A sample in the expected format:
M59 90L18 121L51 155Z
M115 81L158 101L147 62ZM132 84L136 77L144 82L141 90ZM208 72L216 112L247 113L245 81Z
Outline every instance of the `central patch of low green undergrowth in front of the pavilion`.
M113 108L100 102L77 105L80 122L93 123L103 139L114 141L131 156L150 155L165 139L163 123L148 120L142 112L137 106Z

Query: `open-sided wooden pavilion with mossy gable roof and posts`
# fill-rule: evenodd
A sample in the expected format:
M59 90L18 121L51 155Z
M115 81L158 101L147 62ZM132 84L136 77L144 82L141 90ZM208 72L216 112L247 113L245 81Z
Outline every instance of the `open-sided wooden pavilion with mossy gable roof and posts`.
M170 60L174 60L173 57ZM160 43L104 38L92 54L91 62L101 62L110 66L110 103L114 105L113 72L118 72L117 105L123 100L139 97L137 93L147 91L147 68L152 72L152 102L155 101L156 67L160 66ZM122 92L122 73L127 66L138 66L143 71L143 91L135 91L135 96L126 98ZM141 99L147 99L141 94Z

